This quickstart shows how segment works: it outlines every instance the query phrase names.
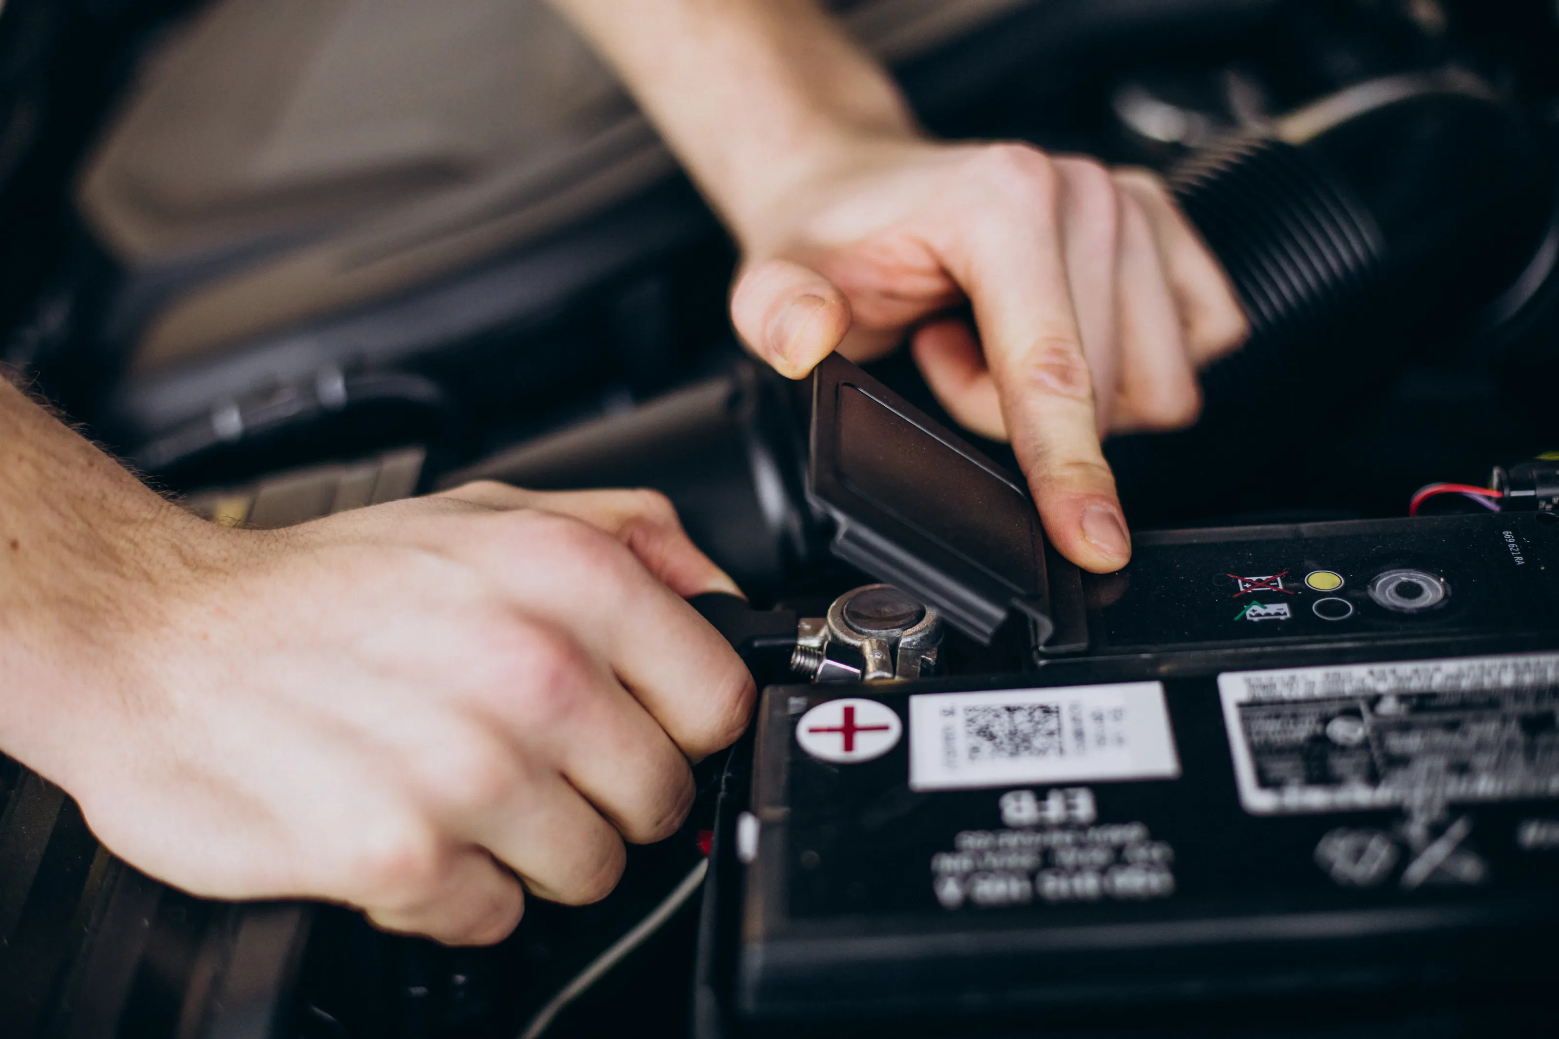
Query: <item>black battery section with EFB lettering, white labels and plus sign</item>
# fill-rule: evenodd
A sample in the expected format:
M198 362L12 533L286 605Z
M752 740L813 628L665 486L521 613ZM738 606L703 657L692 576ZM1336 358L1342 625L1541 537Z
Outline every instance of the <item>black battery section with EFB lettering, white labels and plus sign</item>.
M1559 653L1084 670L765 692L744 1014L1559 966Z

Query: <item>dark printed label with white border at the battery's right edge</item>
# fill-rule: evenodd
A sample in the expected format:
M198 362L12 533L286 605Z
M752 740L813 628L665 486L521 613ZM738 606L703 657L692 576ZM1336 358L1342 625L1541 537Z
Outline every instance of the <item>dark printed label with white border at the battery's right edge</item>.
M1253 815L1559 796L1559 654L1218 676Z

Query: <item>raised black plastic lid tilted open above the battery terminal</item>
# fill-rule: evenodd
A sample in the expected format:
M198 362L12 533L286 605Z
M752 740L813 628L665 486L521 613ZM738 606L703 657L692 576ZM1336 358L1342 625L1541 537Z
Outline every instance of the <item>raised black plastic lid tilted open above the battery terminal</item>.
M839 355L812 374L808 497L833 551L990 643L1013 611L1049 639L1045 534L1023 481Z

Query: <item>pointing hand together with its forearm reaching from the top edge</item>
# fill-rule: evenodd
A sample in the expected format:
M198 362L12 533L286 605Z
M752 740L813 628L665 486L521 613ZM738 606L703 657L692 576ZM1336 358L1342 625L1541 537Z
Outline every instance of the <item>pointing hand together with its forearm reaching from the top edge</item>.
M1247 329L1155 176L931 140L820 0L552 2L741 245L748 349L800 379L836 349L907 341L948 414L1012 442L1051 544L1096 573L1126 565L1102 438L1190 425L1197 371ZM949 316L965 304L973 327Z

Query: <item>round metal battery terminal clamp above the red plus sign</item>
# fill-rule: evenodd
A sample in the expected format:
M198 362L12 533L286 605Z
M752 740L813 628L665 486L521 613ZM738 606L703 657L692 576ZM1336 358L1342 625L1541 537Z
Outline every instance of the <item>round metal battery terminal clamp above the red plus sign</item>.
M865 584L836 598L828 617L797 622L790 670L814 682L926 678L940 648L935 609L892 584Z

